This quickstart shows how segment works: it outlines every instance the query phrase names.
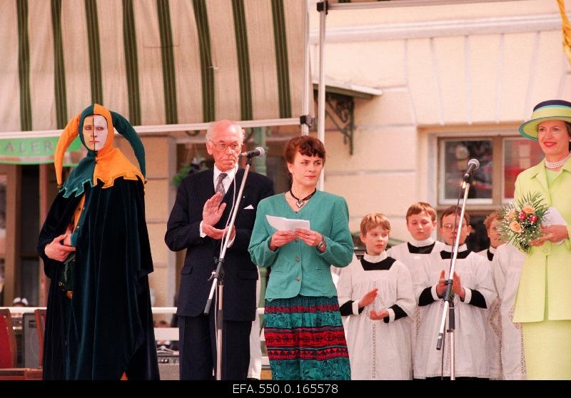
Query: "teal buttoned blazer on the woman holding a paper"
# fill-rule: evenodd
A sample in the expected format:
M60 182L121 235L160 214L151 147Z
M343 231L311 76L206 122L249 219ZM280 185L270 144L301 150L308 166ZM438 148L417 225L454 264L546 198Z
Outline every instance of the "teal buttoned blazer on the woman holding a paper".
M297 239L275 252L270 250L273 233L266 215L309 220L310 229L325 238L327 248L320 252ZM330 266L345 267L353 258L353 239L349 231L349 210L345 199L317 191L298 213L295 213L283 193L258 204L256 223L248 251L259 267L270 267L266 299L291 298L297 295L336 297Z

